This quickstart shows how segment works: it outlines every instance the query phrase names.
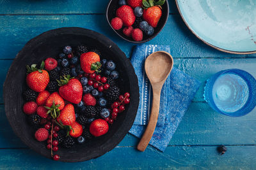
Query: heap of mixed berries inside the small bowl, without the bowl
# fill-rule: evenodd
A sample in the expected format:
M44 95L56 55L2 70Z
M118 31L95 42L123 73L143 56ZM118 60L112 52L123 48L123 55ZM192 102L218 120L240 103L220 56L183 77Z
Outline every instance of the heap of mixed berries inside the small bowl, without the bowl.
M131 37L134 41L142 41L154 34L154 28L162 16L161 6L165 0L119 0L120 6L111 20L111 26ZM143 10L144 9L144 10Z

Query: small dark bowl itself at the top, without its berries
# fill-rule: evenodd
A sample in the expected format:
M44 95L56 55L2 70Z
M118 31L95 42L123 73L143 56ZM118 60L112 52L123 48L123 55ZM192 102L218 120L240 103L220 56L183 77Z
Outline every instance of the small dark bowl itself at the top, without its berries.
M111 29L113 29L113 27L111 26L110 22L112 20L112 18L115 18L116 15L116 10L119 8L120 6L118 6L118 0L110 0L109 4L108 4L108 8L106 11L106 17L108 20L108 24L111 27ZM118 36L120 36L122 39L125 39L126 41L129 41L130 43L136 43L136 44L140 44L140 43L146 43L147 41L150 41L151 39L155 38L157 36L157 34L159 34L159 32L163 29L164 25L166 24L167 20L168 20L168 16L169 16L169 4L168 4L168 0L165 1L165 3L162 6L162 17L160 18L157 27L154 28L154 34L152 36L146 36L145 34L143 34L143 40L142 41L134 41L131 37L127 37L125 36L125 34L122 32L122 29L120 30L115 30L113 29L113 31L116 32L116 34L118 34Z

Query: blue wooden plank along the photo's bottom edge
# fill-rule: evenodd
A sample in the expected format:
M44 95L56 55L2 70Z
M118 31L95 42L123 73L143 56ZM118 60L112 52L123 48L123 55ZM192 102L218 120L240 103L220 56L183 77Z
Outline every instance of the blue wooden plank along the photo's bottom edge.
M54 162L29 149L0 150L1 169L255 169L256 146L228 146L224 155L216 146L154 148L139 152L120 147L97 159L76 164Z

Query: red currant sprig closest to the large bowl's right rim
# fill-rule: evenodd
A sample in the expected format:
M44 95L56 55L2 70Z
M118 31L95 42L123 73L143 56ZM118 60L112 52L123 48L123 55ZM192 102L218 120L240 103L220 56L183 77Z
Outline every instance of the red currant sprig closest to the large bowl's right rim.
M129 97L130 97L130 94L128 92L125 93L124 95L120 95L118 97L119 100L115 101L111 105L111 108L113 109L111 116L105 119L109 124L113 124L114 120L116 120L117 114L122 113L125 110L125 104L130 103Z

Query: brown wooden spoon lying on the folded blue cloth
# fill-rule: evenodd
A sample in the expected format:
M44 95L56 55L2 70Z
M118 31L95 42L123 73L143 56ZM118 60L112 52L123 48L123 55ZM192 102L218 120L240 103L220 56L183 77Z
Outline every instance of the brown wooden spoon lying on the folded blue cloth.
M148 120L147 129L144 132L137 149L141 152L147 148L150 139L156 128L161 90L164 81L171 73L173 67L173 58L170 53L159 51L148 55L145 61L145 71L147 73L148 79L152 85L153 90L153 101L150 113L150 118Z

